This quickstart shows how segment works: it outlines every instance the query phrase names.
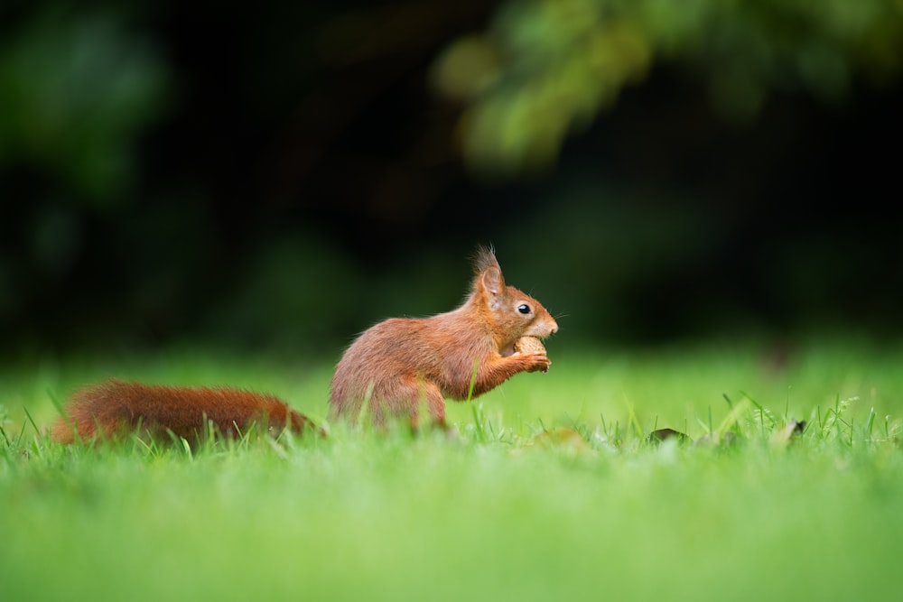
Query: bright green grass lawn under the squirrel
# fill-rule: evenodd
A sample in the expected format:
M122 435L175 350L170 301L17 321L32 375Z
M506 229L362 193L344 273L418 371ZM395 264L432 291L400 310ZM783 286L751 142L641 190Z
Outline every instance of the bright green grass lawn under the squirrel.
M903 347L810 340L780 359L749 342L563 343L547 375L450 405L454 437L332 424L324 441L193 451L67 448L32 421L108 375L272 391L322 421L332 358L172 349L6 366L0 598L897 595ZM805 431L773 440L789 420ZM740 438L647 441L665 426Z

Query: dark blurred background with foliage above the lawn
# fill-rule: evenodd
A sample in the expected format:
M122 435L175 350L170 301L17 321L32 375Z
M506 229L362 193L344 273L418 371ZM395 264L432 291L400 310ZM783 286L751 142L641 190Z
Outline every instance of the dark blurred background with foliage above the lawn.
M332 361L488 242L554 346L893 338L901 68L900 0L5 0L0 354Z

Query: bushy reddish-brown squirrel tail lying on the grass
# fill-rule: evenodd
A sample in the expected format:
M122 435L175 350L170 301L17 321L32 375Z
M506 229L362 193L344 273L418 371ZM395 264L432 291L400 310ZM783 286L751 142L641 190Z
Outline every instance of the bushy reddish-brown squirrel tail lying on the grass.
M66 414L51 428L52 438L61 443L113 439L139 428L154 436L166 436L171 431L193 441L208 431L208 423L226 436L247 432L255 422L271 431L288 428L300 434L317 430L306 416L273 395L225 387L176 387L115 379L81 389L67 404Z

